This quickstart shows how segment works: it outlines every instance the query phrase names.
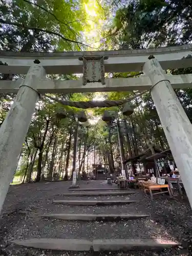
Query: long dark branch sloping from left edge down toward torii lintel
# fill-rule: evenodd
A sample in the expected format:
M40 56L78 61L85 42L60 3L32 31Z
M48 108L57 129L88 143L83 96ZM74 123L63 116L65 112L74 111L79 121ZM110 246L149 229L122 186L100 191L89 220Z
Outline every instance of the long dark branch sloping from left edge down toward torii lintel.
M83 46L86 46L86 47L89 47L89 48L92 48L92 49L97 49L97 48L88 46L86 44L83 44L83 42L79 42L79 41L74 41L74 40L68 39L68 38L62 36L59 33L56 33L56 32L53 32L53 31L49 31L47 29L28 27L28 26L25 26L24 24L20 24L20 23L17 23L17 22L11 22L10 20L3 20L2 18L0 18L0 23L13 25L13 26L16 26L16 27L19 27L19 28L31 29L31 30L34 30L34 31L41 31L41 32L48 33L48 34L57 35L57 36L61 37L63 40L65 40L65 41L74 42L77 45L80 44L80 45L83 45Z

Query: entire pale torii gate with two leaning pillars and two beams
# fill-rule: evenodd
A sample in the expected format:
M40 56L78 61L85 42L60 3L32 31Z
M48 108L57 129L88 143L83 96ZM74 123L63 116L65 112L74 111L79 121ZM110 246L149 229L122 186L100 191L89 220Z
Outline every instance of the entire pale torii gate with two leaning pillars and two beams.
M173 90L173 88L192 87L192 75L166 75L163 71L163 69L191 67L191 50L192 45L93 52L0 52L0 60L8 64L8 66L0 65L0 73L27 74L24 80L0 81L0 93L17 93L0 128L0 211L31 122L38 92L143 91L149 88L152 88L152 98L192 207L192 125ZM92 79L86 77L90 72L86 62L89 62L89 65L94 62ZM82 70L85 85L80 80L46 79L46 73L83 73ZM141 70L145 74L143 77L104 81L104 72Z

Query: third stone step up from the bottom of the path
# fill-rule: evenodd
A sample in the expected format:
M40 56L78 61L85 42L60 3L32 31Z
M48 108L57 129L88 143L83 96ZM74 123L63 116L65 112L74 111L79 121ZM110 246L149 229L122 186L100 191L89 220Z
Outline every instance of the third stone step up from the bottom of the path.
M131 201L131 200L118 200L118 201L68 201L68 200L54 200L53 203L56 204L67 204L67 205L122 205L122 204L130 204L135 203L137 201Z

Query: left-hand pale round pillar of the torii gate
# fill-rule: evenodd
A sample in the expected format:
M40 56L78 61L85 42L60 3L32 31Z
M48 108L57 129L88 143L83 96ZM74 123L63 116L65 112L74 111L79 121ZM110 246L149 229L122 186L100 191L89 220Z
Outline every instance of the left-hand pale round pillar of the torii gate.
M30 67L0 128L0 212L38 99L35 89L39 79L45 78L45 75L44 68L39 65L34 63Z

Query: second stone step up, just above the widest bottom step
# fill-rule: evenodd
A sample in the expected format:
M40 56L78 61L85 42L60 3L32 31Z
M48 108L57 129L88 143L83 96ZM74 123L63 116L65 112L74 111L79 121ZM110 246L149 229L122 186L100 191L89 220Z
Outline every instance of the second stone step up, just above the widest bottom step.
M147 218L145 214L45 214L42 218L51 218L68 221L120 221Z

